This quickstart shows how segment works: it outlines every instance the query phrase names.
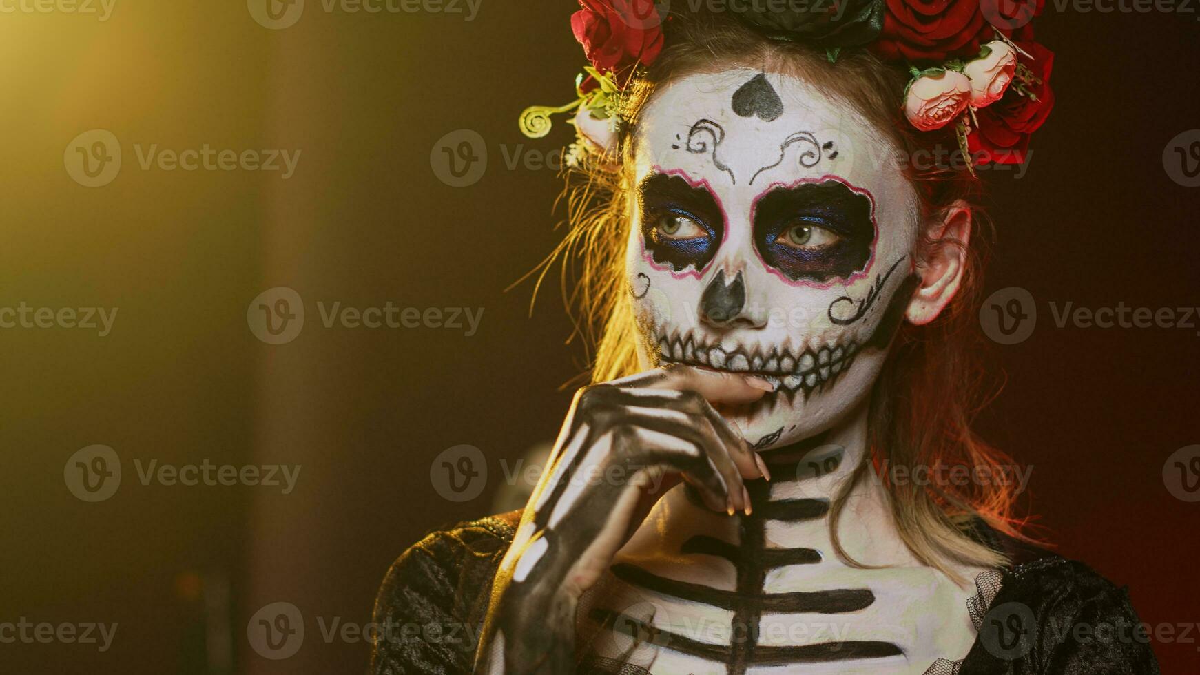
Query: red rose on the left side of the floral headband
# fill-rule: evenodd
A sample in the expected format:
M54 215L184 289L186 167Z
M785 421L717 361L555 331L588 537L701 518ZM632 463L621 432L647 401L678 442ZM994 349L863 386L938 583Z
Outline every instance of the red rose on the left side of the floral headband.
M580 0L571 31L588 61L624 86L638 64L648 65L662 50L662 25L652 0Z

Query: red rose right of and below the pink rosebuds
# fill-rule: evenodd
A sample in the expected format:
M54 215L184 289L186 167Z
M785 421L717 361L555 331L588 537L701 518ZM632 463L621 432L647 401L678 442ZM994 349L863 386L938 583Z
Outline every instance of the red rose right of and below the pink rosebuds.
M1021 49L1033 59L1018 56L1021 65L1030 70L1040 83L1014 79L1004 96L976 110L979 128L967 135L967 147L979 163L996 162L998 164L1019 164L1025 161L1030 146L1030 134L1046 121L1054 108L1054 90L1050 89L1050 68L1054 66L1054 53L1036 42L1018 42ZM1022 96L1018 86L1033 96ZM1037 98L1034 98L1037 97Z

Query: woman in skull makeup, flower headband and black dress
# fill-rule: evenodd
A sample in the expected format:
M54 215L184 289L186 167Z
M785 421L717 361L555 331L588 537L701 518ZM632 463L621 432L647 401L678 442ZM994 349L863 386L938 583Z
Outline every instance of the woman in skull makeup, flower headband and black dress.
M380 625L478 640L392 634L373 671L1157 673L1124 591L1020 534L968 424L968 167L1020 157L1049 52L970 0L948 47L902 1L634 5L572 22L594 67L560 253L594 384L522 512L433 532L384 581ZM938 44L978 58L894 64Z

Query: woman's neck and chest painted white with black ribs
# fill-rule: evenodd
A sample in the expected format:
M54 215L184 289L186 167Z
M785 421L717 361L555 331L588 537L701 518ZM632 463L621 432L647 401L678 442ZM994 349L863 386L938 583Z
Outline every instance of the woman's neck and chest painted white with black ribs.
M901 562L878 571L829 549L829 496L860 456L827 440L769 456L775 478L749 484L755 508L736 523L708 522L688 489L671 495L581 604L584 671L919 675L964 656L972 634L961 589L905 566L898 542L872 542ZM874 517L877 506L859 510ZM672 530L682 532L662 535ZM853 548L880 535L850 538Z

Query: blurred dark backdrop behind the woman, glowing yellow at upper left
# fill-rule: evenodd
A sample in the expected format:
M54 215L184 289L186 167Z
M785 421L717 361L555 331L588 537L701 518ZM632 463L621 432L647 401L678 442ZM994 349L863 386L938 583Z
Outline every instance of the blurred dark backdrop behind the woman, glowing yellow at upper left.
M559 236L554 171L509 169L505 151L571 139L560 125L530 141L516 119L570 100L583 65L574 8L484 0L464 22L325 13L310 0L276 31L239 1L118 0L107 22L0 16L0 306L119 307L104 338L0 331L0 621L119 623L104 653L0 644L0 673L366 668L366 643L326 643L317 619L370 621L404 548L488 511L500 459L553 438L570 396L560 385L584 366L564 344L556 284L532 317L529 283L504 291ZM1057 53L1057 107L1025 177L985 179L1000 233L988 290L1028 289L1040 317L1028 340L994 349L1008 384L980 429L1034 466L1027 506L1061 552L1128 584L1151 623L1200 621L1200 504L1163 480L1168 456L1200 442L1200 333L1058 329L1048 303L1200 305L1200 188L1172 182L1162 161L1200 127L1196 16L1048 6L1038 37ZM86 188L64 149L92 128L116 134L125 165ZM490 162L455 188L431 151L460 128L482 135ZM302 155L289 180L140 170L132 145L152 143ZM308 318L272 346L246 308L276 285L295 289ZM473 337L326 330L317 301L485 313ZM97 504L64 483L67 458L91 444L112 446L125 471ZM462 504L430 474L458 444L493 472ZM143 486L134 458L302 470L289 495ZM246 637L276 601L306 621L284 661ZM1200 664L1196 643L1156 650L1164 673Z

